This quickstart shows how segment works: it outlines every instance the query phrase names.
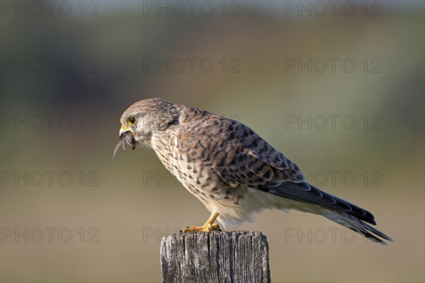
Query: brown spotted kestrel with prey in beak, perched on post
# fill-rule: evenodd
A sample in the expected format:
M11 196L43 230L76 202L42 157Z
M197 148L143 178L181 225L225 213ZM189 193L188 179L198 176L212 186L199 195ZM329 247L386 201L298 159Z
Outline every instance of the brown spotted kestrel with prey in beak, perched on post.
M120 145L153 149L210 211L203 226L189 231L224 229L250 221L263 209L297 209L319 214L371 241L392 241L373 228L373 214L310 185L295 163L241 122L159 98L130 106L120 120ZM114 156L115 156L114 152ZM379 238L378 238L379 237ZM382 238L382 239L381 239Z

